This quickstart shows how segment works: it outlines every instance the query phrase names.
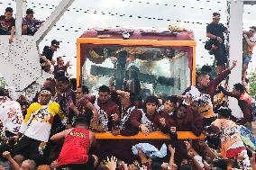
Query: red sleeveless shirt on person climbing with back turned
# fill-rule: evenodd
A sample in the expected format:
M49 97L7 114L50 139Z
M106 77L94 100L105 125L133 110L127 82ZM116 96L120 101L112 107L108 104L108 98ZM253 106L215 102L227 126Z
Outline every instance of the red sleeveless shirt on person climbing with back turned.
M74 128L67 135L58 158L58 166L86 164L90 149L89 130Z

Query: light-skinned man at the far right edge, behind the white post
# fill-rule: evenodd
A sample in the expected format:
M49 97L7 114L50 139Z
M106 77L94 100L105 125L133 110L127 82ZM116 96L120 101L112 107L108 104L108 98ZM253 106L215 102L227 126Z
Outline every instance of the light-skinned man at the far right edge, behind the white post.
M252 57L252 50L255 46L255 35L256 27L250 27L249 31L242 32L242 84L246 85L246 70Z

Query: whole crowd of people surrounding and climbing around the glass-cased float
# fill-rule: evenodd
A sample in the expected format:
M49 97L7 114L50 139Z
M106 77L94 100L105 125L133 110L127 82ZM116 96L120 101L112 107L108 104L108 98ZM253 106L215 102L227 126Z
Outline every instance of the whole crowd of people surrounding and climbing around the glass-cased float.
M14 39L13 9L8 7L0 17L0 34ZM197 85L189 86L183 94L166 98L150 95L145 100L135 97L129 89L114 90L102 85L98 94L90 94L85 85L73 85L67 76L69 62L53 60L59 41L52 40L41 54L41 67L54 78L47 78L32 101L20 96L14 100L5 88L0 88L0 169L14 170L256 170L256 139L251 131L256 107L243 84L233 85L228 92L221 83L236 67L226 67L224 32L220 14L214 13L207 26L211 50L217 61L217 76L202 67L197 74ZM23 18L23 34L33 35L41 22L33 19L32 9ZM244 71L255 45L251 37L255 27L243 32ZM249 50L250 49L250 50ZM246 67L247 66L247 67ZM238 100L242 118L225 103L225 96ZM245 130L246 135L242 133ZM150 143L125 146L133 149L136 160L120 160L109 153L101 157L96 152L96 133L110 131L113 136L149 135L160 131L169 136L168 146L160 150ZM191 131L204 139L178 139L178 131ZM249 138L246 138L248 137ZM122 142L122 140L120 140ZM125 153L123 153L125 154Z

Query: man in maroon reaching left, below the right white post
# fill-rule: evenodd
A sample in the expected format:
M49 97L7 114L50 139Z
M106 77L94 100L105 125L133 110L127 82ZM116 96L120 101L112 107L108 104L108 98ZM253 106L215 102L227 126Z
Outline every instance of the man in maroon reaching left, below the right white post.
M233 121L236 123L244 125L247 122L252 121L251 117L251 101L252 98L249 94L247 94L244 90L244 86L242 84L235 84L233 85L233 91L227 92L223 86L219 86L219 90L223 92L223 94L234 97L238 100L238 105L242 111L243 118L237 119L232 116Z

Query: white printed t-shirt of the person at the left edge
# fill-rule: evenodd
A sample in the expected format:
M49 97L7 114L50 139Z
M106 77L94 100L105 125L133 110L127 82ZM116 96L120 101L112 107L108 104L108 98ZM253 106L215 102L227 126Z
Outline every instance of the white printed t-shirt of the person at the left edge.
M3 123L5 130L17 134L23 123L23 112L20 103L5 97L0 102L0 121Z

